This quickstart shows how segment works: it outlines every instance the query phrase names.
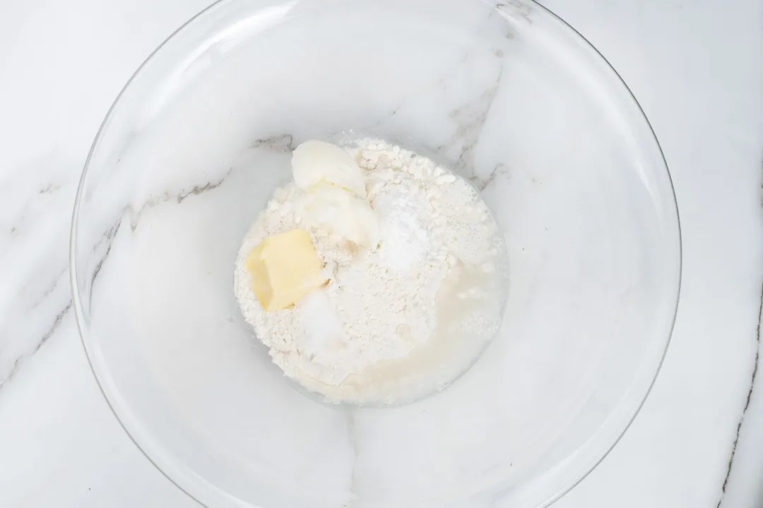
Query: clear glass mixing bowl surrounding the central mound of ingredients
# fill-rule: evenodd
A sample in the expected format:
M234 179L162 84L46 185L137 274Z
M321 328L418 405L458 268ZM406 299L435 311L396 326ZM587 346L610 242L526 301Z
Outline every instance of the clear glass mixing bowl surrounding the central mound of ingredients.
M445 391L328 407L272 365L233 260L289 152L347 129L451 161L507 243L500 333ZM642 110L529 0L223 0L105 119L72 225L82 341L125 430L211 508L545 506L639 410L681 245Z

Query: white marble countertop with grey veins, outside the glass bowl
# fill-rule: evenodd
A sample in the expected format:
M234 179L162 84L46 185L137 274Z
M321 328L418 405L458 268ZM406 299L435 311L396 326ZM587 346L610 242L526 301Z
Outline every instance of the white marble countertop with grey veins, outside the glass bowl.
M555 506L763 506L763 5L544 2L588 37L662 142L684 283L662 373ZM143 58L204 0L0 5L0 506L197 506L108 410L69 304L79 171Z

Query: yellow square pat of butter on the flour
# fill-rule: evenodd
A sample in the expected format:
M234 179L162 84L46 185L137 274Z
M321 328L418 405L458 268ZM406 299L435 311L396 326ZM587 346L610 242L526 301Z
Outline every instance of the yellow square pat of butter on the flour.
M327 280L321 275L322 269L304 229L269 236L246 257L252 289L266 311L294 305L308 292L323 286Z

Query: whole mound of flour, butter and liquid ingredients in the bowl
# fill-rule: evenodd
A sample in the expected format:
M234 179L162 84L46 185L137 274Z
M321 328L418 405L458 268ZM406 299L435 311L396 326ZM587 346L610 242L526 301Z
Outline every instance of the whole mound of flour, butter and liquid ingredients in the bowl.
M461 177L386 142L311 140L246 233L234 290L273 362L326 401L444 389L501 324L504 243Z

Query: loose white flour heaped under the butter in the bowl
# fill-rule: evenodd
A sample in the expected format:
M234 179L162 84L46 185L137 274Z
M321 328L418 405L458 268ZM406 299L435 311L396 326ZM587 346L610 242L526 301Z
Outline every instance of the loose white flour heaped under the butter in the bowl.
M286 375L329 398L373 401L378 395L389 401L394 390L379 390L384 370L379 367L399 366L432 340L443 288L457 286L464 271L495 270L502 244L475 190L430 159L371 140L347 151L365 169L369 203L378 218L378 250L305 227L294 206L302 191L287 184L243 241L235 292L246 321ZM310 233L330 282L292 308L265 312L251 289L244 258L267 235L294 228ZM450 299L474 301L475 295L495 297L466 287ZM485 305L489 316L477 312L478 320L487 320L485 334L493 333L500 320L494 307ZM377 386L365 382L369 372L375 372Z

